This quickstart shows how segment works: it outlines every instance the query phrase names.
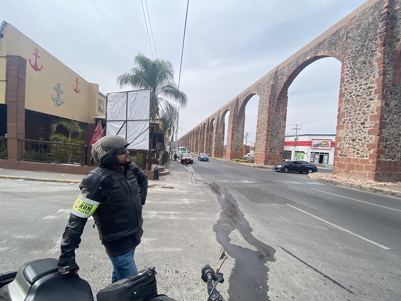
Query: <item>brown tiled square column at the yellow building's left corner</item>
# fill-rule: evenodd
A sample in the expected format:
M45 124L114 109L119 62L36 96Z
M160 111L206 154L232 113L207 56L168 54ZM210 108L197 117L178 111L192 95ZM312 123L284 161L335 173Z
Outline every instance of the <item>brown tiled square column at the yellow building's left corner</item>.
M8 160L16 161L24 154L24 143L18 150L17 138L25 138L26 60L10 55L7 74L7 152Z

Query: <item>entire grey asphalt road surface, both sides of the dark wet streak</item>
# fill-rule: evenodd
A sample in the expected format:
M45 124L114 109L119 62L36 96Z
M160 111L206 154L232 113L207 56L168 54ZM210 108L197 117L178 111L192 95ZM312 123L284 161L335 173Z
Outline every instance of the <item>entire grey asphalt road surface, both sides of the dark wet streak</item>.
M223 245L225 300L401 300L400 199L196 159L174 164L176 182L149 189L144 206L135 257L139 269L156 266L159 293L207 300L200 270L217 266ZM78 185L0 179L0 187L0 271L57 258ZM111 264L92 226L77 262L96 294Z

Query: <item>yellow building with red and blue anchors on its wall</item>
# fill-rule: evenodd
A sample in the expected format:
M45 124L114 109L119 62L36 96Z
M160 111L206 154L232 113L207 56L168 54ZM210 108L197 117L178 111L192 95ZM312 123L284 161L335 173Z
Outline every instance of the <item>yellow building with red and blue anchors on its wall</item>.
M51 125L60 117L80 121L89 144L97 120L105 115L106 96L98 84L87 82L11 24L1 23L0 137L7 137L8 160L23 156L17 145L21 139L49 141Z

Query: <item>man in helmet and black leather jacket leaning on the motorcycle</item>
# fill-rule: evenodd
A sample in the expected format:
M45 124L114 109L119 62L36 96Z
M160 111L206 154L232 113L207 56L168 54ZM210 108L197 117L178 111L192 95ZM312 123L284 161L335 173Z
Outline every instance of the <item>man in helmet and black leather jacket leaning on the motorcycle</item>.
M112 283L138 272L134 252L143 234L142 206L148 193L148 177L131 162L128 145L127 140L115 135L102 137L93 145L92 157L100 167L90 171L80 184L61 241L61 274L77 274L75 249L90 216L113 264Z

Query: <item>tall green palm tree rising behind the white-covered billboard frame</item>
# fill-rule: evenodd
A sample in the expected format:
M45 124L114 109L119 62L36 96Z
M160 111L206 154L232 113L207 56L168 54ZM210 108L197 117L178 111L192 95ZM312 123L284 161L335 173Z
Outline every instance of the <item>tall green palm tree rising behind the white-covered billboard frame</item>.
M177 108L170 100L186 108L188 97L174 83L174 70L167 59L152 60L142 53L135 56L136 67L117 77L120 88L130 85L134 89L150 89L150 118L160 121L160 129L167 135L173 132Z

